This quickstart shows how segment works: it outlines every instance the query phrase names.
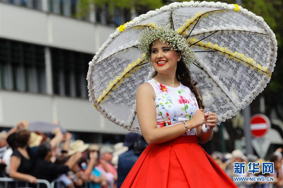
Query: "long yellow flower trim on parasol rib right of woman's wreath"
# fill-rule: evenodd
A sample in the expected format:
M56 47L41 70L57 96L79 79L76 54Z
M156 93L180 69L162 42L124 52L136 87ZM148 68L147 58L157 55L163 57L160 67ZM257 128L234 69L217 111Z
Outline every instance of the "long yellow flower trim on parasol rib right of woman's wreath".
M194 44L197 41L198 40L196 38L188 39L189 44ZM237 52L237 51L232 52L228 48L220 47L218 44L213 44L211 42L204 43L202 41L199 41L198 43L194 45L198 46L199 48L203 48L205 50L208 50L208 49L217 50L219 51L221 55L227 54L228 58L234 59L237 62L241 62L241 61L247 62L245 63L247 67L251 67L252 69L257 68L259 73L262 73L263 75L269 74L269 78L271 77L270 71L265 66L261 66L253 58L246 57L244 54L241 54L240 52Z

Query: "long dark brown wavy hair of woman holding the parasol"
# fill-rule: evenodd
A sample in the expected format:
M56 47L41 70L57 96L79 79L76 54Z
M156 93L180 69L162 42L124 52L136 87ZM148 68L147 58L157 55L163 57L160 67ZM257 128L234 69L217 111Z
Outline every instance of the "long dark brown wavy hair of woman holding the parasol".
M149 53L151 54L151 47L152 44L150 44L149 47ZM177 51L177 53L180 51ZM155 70L153 73L153 76L157 75L157 71ZM191 80L191 72L187 68L186 64L184 63L183 59L181 59L179 62L177 62L177 69L176 69L176 78L178 81L180 81L184 86L187 86L191 89L192 93L195 95L197 99L198 107L201 109L204 109L203 105L203 99L201 97L201 94L197 88L197 81Z

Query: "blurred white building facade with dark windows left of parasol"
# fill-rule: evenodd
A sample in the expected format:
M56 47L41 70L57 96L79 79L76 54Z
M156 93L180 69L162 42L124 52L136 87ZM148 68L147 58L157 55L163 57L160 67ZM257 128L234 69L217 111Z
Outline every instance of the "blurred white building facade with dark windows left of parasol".
M88 62L115 27L98 23L95 9L72 18L74 2L0 1L0 127L59 120L68 131L127 133L88 100Z

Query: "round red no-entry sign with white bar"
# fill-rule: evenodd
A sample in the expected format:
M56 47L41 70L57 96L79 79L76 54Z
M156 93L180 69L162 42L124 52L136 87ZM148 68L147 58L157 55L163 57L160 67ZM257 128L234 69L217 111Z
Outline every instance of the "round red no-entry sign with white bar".
M264 114L255 114L251 117L251 133L255 138L263 137L270 128L270 120Z

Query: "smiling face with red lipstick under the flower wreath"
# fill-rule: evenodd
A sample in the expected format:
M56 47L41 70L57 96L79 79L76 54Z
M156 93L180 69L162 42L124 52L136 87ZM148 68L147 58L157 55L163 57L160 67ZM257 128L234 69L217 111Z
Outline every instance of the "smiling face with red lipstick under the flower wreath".
M181 55L176 50L171 50L167 42L162 43L156 39L151 47L151 62L153 68L157 72L172 72L176 71L177 62L180 61Z

